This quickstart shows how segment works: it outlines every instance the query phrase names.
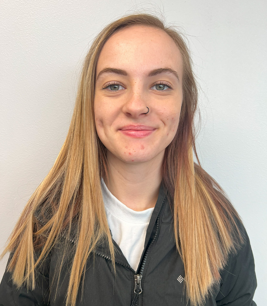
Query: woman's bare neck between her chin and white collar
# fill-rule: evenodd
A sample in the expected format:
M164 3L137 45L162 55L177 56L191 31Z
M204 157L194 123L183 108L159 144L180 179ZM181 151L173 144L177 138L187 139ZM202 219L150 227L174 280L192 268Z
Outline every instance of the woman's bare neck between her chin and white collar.
M162 181L164 152L157 159L142 163L127 163L108 154L108 178L104 179L109 191L124 205L143 211L154 207Z

